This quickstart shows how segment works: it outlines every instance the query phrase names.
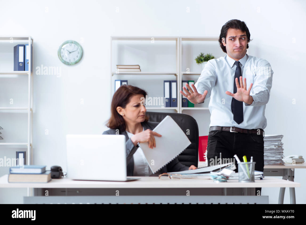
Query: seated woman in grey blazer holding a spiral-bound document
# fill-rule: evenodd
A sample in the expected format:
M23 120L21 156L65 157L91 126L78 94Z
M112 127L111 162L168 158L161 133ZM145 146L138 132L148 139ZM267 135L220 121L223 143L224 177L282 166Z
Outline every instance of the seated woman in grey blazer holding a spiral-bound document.
M148 122L147 110L142 104L146 96L147 93L138 87L119 87L113 96L111 117L106 124L110 129L103 132L103 135L125 135L127 176L158 176L164 172L196 169L194 165L185 166L175 158L155 174L152 173L138 143L148 142L153 149L156 147L154 136L162 135L152 131L159 123Z

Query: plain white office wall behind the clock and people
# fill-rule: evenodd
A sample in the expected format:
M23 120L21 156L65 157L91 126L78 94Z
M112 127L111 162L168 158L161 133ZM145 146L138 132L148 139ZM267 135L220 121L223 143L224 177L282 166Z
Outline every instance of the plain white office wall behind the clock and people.
M305 5L304 1L1 0L0 35L31 35L34 68L62 68L61 77L34 74L34 163L49 168L61 165L65 170L66 134L101 134L107 129L104 124L110 116L110 36L219 36L222 25L230 19L246 22L253 39L249 43L250 54L268 60L274 71L265 133L284 135L285 155L303 155ZM70 39L79 43L84 40L83 58L75 66L62 64L57 56L58 46ZM10 79L1 84L0 95L13 95L14 83L22 87L23 79ZM1 105L9 101L9 94L5 96ZM292 104L293 98L296 104ZM13 118L0 113L0 126ZM196 113L200 135L205 135L210 114ZM21 136L18 124L8 129ZM49 135L45 135L46 129ZM15 150L1 146L0 157L15 157ZM0 168L0 175L7 171L8 168ZM295 172L295 181L302 186L296 188L297 203L306 203L304 172ZM270 203L277 203L278 191L279 188L263 188L262 194L270 196ZM1 189L0 203L22 203L24 195L25 189ZM288 190L285 203L289 203Z

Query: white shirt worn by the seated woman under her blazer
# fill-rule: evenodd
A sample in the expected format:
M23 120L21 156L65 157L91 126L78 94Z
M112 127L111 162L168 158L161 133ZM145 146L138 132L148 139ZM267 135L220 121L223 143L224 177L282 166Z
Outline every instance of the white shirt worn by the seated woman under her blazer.
M143 128L143 131L144 131L144 128ZM129 138L133 136L133 134L128 131L126 131L126 133L128 134ZM142 151L140 147L133 154L133 159L134 159L133 176L150 176L153 174L151 169L149 168L147 159L144 156L144 152Z

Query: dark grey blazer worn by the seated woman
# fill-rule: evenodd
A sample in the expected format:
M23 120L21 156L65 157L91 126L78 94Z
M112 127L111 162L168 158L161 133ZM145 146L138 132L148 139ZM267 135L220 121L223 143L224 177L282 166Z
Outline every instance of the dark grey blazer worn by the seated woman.
M157 122L142 122L141 125L144 128L144 130L150 129L153 130L157 126ZM115 135L116 129L109 129L107 131L103 132L103 135ZM136 150L139 148L139 145L134 146L133 142L131 141L131 138L129 138L126 131L121 132L119 131L120 135L125 135L125 147L126 147L126 164L127 164L127 176L133 176L134 172L134 159L133 154L136 152ZM161 156L162 157L162 156ZM181 164L177 158L172 160L170 163L168 163L166 166L161 168L159 171L157 171L155 174L152 174L151 176L158 176L161 173L166 172L176 172L176 171L183 171L188 170L189 167Z

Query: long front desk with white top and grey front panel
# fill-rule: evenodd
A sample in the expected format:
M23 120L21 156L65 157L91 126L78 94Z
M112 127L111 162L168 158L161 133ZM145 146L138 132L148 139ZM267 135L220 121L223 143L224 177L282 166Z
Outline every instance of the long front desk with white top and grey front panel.
M135 178L135 177L133 177ZM74 194L73 196L34 196L24 197L24 203L72 203L72 201L84 201L88 202L187 202L187 203L268 203L268 196L254 196L256 187L300 187L299 183L287 181L284 179L277 179L272 177L264 178L263 180L256 180L253 183L239 183L237 180L229 180L224 183L215 183L210 179L179 179L179 180L161 180L158 177L139 177L140 180L129 182L114 182L114 181L79 181L71 180L68 178L52 179L48 183L8 183L8 175L0 177L0 188L43 188L43 189L114 189L113 194L110 196L83 196ZM186 191L191 189L199 189L202 191L202 195L193 195L193 191L190 191L190 196L186 196ZM118 198L115 196L115 190L121 191L122 189L149 189L161 191L166 195L152 196L151 193L143 196L139 191L139 195L122 196ZM183 192L180 196L173 196L174 189L182 189ZM206 190L221 190L221 195L209 195ZM241 195L228 195L231 189L239 189ZM167 195L164 190L170 190L171 194ZM41 193L43 194L43 193ZM66 193L67 195L67 193ZM104 195L104 194L102 194ZM140 196L141 195L141 196ZM119 202L120 202L119 201ZM203 204L203 203L202 203Z

